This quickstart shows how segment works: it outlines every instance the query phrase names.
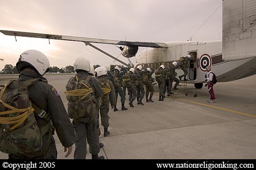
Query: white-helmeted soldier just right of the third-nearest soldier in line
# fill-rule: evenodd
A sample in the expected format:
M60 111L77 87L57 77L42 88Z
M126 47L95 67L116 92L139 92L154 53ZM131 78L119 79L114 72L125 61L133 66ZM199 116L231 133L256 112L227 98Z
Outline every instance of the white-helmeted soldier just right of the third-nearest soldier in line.
M122 70L123 69L123 70ZM122 70L122 71L121 71ZM121 104L122 104L122 111L126 111L127 108L125 107L125 95L123 94L123 89L121 87L121 79L123 74L125 74L127 70L124 67L115 66L114 70L114 87L115 87L115 98L118 98L118 94L121 97ZM117 106L114 106L114 112L118 111Z

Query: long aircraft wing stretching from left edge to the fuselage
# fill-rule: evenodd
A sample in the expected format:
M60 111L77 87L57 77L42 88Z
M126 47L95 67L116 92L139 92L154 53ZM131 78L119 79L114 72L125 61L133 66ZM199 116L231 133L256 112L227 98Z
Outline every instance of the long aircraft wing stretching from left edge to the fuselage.
M47 33L33 33L33 32L20 32L20 31L7 31L0 30L5 35L9 36L22 36L22 37L34 37L40 39L54 39L54 40L66 40L66 41L81 41L81 42L93 42L100 44L115 44L115 45L135 45L152 48L167 48L167 44L160 42L138 42L138 41L118 41L118 40L106 40L106 39L92 39L86 37L73 37L63 35L51 35Z

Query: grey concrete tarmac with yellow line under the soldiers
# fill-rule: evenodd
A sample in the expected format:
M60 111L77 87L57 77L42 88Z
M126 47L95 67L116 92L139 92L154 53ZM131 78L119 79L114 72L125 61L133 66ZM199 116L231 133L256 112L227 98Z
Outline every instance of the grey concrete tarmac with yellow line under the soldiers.
M46 75L67 108L64 91L72 75ZM9 76L16 78L17 76ZM188 84L188 95L176 92L174 97L158 101L155 86L154 103L137 105L127 111L109 112L108 137L99 155L105 159L256 159L256 75L214 85L216 103L209 104L209 93L203 86L194 97ZM7 79L0 75L0 84ZM178 88L183 88L179 86ZM126 96L127 97L127 96ZM101 132L103 127L100 126ZM64 147L55 134L58 159L65 158ZM89 150L88 150L89 151ZM87 153L86 159L91 156ZM0 159L7 154L0 153Z

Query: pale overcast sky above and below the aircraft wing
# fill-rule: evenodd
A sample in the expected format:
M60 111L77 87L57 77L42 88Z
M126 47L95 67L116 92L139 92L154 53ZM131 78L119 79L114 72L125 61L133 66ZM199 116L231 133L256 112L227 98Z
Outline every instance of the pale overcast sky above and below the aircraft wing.
M0 0L0 29L91 37L98 39L168 42L186 41L205 22L222 0ZM192 40L222 38L222 6L192 37ZM15 65L28 49L40 50L51 66L73 65L84 56L93 65L113 59L82 42L5 36L0 33L0 70ZM94 44L113 56L114 45ZM143 50L144 48L139 48ZM127 62L125 57L119 57ZM135 59L132 59L135 62ZM118 62L116 62L118 63Z

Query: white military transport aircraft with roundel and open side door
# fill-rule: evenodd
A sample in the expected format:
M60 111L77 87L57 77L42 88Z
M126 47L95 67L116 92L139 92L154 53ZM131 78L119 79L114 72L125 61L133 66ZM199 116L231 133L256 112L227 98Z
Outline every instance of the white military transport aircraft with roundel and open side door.
M190 54L193 61L189 62L188 82L196 88L203 87L206 67L218 76L218 82L228 82L256 74L256 1L224 0L223 6L223 37L222 41L172 41L172 42L133 42L86 37L51 35L47 33L32 33L1 30L5 35L35 37L66 41L81 41L85 45L116 59L123 65L127 63L97 48L91 43L120 45L122 56L136 57L136 65L150 66L158 69L162 64L171 65L181 56ZM121 46L123 45L123 46ZM148 47L137 54L138 46ZM181 70L177 69L177 75Z

